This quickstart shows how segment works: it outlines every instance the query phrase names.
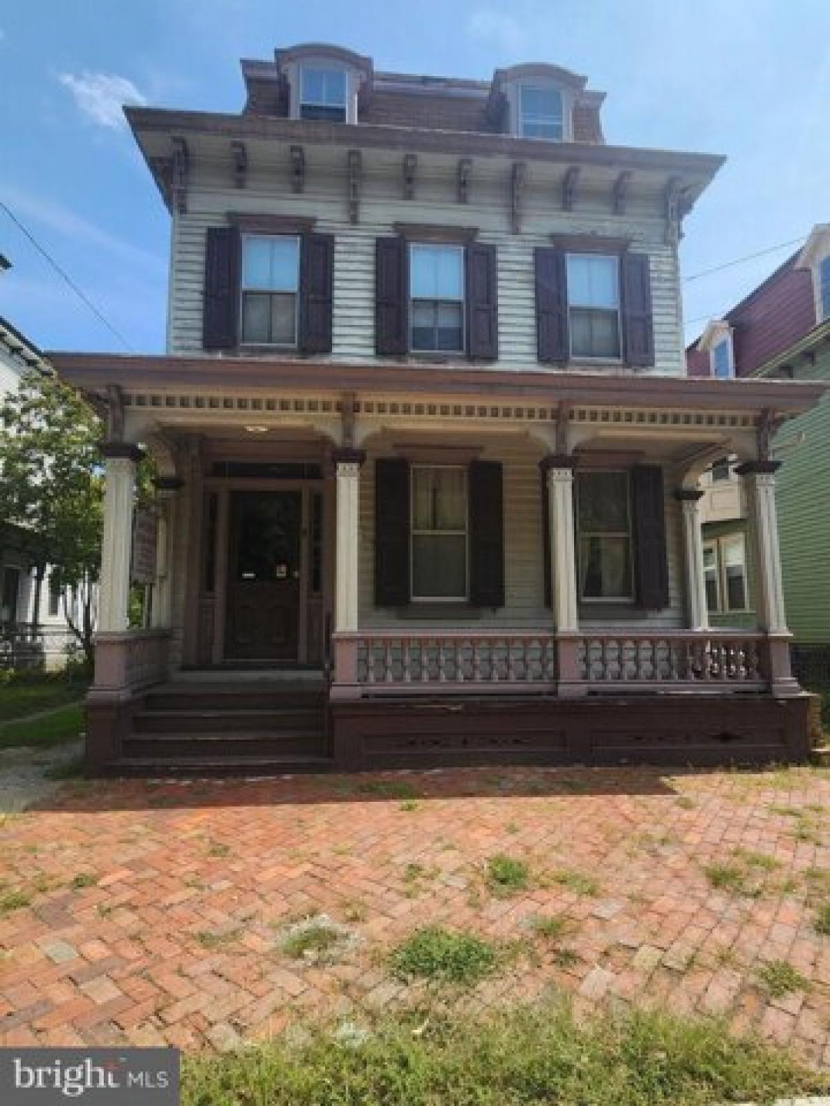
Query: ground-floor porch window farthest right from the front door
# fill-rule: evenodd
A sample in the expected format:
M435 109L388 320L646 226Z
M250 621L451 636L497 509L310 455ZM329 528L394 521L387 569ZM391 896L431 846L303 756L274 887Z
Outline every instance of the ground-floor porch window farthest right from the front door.
M633 599L630 504L627 472L577 474L581 599Z

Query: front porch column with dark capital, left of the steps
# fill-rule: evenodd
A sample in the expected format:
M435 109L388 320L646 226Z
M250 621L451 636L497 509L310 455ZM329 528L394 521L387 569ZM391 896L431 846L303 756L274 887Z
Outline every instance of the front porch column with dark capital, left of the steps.
M101 447L104 456L104 536L101 545L98 585L100 634L127 628L129 560L133 549L133 492L137 446L110 441Z

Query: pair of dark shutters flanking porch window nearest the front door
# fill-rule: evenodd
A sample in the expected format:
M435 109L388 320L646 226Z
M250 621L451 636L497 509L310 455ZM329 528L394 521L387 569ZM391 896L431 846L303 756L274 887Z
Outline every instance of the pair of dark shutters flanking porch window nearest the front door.
M478 607L505 605L505 533L500 461L468 468L469 597ZM375 461L375 605L409 603L409 462Z

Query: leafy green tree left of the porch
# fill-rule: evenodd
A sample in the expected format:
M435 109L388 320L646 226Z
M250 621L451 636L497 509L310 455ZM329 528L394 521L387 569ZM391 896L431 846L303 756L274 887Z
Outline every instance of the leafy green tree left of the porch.
M0 519L19 528L35 574L35 619L46 566L89 664L101 567L101 426L72 388L32 369L0 407Z

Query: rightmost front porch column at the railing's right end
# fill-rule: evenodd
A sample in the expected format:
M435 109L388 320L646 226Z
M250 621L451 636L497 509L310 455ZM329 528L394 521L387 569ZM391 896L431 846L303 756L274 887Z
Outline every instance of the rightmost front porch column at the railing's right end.
M776 695L799 690L790 668L790 632L784 607L781 554L778 544L776 478L780 461L748 461L736 472L747 483L749 529L755 552L755 604L758 623L767 633L767 668Z

